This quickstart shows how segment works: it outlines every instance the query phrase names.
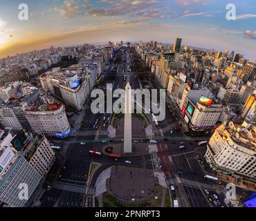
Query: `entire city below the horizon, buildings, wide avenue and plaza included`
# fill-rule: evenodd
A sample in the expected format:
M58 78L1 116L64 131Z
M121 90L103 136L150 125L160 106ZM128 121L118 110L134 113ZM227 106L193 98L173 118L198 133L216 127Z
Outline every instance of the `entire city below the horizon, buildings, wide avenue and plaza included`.
M239 52L51 46L0 59L0 76L0 207L256 206L256 65ZM107 84L164 89L165 120L93 114Z

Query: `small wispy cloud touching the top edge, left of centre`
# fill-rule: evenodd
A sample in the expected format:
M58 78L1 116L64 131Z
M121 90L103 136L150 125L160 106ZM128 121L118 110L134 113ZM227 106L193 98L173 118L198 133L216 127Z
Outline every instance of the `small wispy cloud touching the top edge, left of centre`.
M55 12L58 12L65 19L71 19L77 15L81 15L79 2L75 0L64 0L64 6L54 8Z

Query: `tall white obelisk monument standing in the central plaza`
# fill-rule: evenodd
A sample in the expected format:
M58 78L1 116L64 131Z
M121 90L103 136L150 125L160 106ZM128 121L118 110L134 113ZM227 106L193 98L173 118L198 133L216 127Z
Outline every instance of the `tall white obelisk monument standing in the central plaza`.
M131 150L131 85L125 86L125 130L124 153L132 153Z

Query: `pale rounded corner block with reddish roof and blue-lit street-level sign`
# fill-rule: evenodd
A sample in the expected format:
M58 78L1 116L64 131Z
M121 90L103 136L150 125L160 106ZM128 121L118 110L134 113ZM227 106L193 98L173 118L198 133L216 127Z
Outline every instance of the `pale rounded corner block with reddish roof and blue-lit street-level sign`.
M22 89L24 94L19 99L1 104L0 122L3 127L55 137L70 135L71 127L62 102L35 87L27 90L23 85Z

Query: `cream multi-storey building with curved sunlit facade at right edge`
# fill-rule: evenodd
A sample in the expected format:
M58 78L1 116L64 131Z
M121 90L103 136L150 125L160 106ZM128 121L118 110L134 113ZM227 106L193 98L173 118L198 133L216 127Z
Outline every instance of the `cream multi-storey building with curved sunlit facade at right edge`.
M215 171L256 177L256 126L224 122L210 138L205 160Z

